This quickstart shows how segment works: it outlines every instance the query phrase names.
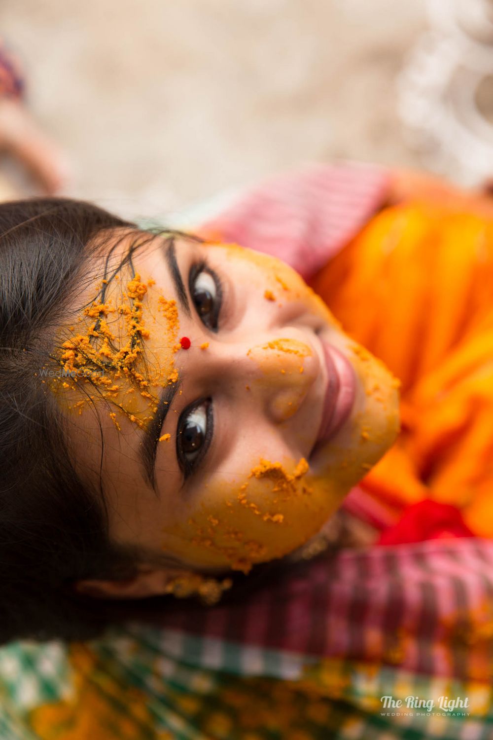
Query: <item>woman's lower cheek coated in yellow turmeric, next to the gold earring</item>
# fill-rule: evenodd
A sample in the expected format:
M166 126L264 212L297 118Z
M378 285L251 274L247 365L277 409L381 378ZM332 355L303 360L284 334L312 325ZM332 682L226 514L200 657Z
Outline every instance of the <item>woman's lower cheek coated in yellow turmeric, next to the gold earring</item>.
M188 517L166 528L163 549L195 567L248 573L303 545L347 490L346 474L316 478L304 458L261 459L242 480L207 485Z

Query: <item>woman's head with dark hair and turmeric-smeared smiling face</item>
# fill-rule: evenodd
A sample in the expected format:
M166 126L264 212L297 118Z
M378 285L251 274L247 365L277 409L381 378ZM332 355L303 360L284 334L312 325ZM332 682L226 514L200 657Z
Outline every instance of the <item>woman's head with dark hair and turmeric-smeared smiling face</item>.
M398 383L279 260L74 201L0 223L4 536L42 584L27 636L76 633L73 591L155 596L290 554L395 439Z

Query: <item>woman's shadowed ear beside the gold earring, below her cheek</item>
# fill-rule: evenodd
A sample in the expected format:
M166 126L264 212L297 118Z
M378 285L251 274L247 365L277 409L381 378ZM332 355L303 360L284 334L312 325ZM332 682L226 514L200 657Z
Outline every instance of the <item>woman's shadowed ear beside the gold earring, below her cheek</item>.
M97 599L143 599L169 593L174 579L185 576L187 571L163 566L141 566L138 573L125 580L83 579L75 583L78 593Z

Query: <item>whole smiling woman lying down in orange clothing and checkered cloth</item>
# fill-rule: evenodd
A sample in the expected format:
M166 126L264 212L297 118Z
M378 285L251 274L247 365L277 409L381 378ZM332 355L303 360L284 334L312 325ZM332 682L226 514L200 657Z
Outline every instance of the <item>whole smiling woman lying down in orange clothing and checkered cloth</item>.
M0 206L1 635L70 641L4 649L7 736L488 736L491 228L350 165L199 236ZM375 546L305 563L350 490Z

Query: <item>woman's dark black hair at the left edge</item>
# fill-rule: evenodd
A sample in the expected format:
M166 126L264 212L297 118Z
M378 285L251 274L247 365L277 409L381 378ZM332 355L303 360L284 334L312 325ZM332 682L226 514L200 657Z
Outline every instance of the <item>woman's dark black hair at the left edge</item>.
M60 408L36 376L96 237L122 227L137 229L65 198L0 204L0 642L95 635L111 609L72 583L135 566L135 552L109 541L101 492L78 477Z

